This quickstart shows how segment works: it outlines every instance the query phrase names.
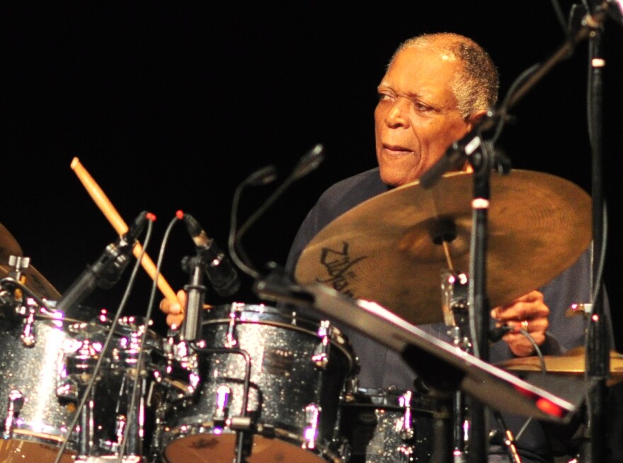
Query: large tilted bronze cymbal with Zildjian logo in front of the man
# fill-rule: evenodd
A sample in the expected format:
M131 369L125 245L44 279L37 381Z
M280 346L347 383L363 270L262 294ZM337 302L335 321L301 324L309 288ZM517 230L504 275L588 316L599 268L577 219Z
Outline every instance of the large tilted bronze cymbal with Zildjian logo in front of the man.
M568 180L530 170L493 173L490 184L486 290L496 307L580 257L592 235L591 199ZM469 271L472 190L471 173L452 172L430 189L413 182L364 201L309 242L295 279L375 301L412 324L442 322L446 256L455 271Z

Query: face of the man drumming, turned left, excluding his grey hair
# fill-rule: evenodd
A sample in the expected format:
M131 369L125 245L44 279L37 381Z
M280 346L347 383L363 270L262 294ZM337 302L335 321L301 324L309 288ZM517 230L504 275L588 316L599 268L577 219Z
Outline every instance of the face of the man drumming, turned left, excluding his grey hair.
M377 160L383 182L413 182L471 130L450 83L459 64L428 48L404 49L378 87Z

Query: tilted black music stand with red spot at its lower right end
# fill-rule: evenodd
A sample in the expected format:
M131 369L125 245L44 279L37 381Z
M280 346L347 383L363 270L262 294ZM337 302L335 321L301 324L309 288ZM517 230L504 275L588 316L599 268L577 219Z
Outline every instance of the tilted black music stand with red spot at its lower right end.
M269 276L257 281L254 290L262 298L313 307L347 324L401 354L425 380L430 380L427 375L433 358L433 370L442 371L444 383L435 384L433 378L432 387L455 387L501 412L568 423L592 387L582 377L528 373L520 379L424 332L377 303L353 300L323 283L299 286Z

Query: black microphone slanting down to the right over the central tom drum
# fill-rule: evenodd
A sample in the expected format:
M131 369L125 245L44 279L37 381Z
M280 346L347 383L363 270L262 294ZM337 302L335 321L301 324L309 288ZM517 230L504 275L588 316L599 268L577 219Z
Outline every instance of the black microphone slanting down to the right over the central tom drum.
M220 296L233 295L240 288L238 273L229 262L224 252L219 249L214 240L207 237L199 222L190 214L185 213L183 221L188 229L190 238L193 238L197 253L205 260L205 274L210 280L212 288Z

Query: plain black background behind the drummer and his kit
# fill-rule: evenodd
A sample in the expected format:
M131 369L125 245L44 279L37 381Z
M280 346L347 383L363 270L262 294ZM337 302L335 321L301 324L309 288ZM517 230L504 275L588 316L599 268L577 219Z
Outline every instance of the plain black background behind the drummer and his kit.
M74 157L127 223L142 210L156 214L148 247L156 261L178 209L226 248L236 186L268 164L282 180L323 143L321 167L287 189L244 238L246 253L264 271L267 262L285 263L299 223L326 187L375 166L375 88L401 40L438 31L473 37L498 64L502 95L564 43L552 3L544 0L224 3L0 4L0 222L60 292L116 238L70 169ZM561 1L564 16L573 5ZM610 18L603 30L605 279L616 326L623 297L623 25ZM513 167L559 175L590 192L588 57L583 41L554 66L515 105L515 123L498 145ZM239 221L280 180L246 190ZM177 224L162 270L174 289L188 282L180 262L193 253ZM518 255L517 263L537 258ZM126 282L93 293L89 302L115 308ZM141 271L128 312L146 312L151 286ZM235 299L256 300L251 279L244 276ZM223 301L209 291L207 302ZM156 309L156 329L164 329L163 320Z

